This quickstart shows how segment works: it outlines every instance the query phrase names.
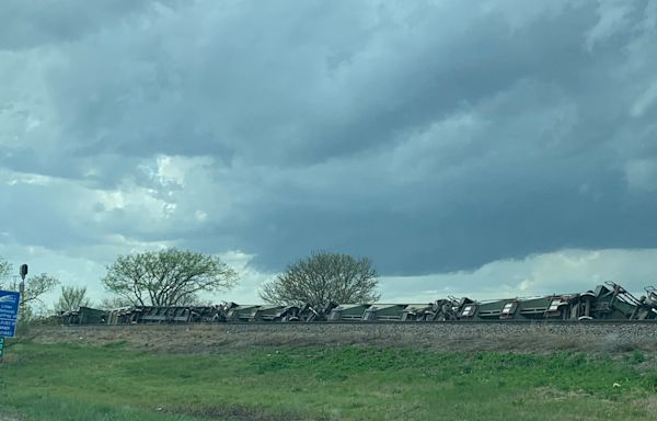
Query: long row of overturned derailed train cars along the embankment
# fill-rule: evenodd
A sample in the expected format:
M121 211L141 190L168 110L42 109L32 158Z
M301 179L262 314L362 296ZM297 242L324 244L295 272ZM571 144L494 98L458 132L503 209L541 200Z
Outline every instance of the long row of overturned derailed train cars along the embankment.
M108 311L81 307L60 315L66 325L142 325L192 322L312 322L312 321L538 321L538 320L657 320L657 289L646 287L636 298L607 282L580 294L477 301L468 297L429 304L328 304L304 306L238 305L187 307L125 307Z

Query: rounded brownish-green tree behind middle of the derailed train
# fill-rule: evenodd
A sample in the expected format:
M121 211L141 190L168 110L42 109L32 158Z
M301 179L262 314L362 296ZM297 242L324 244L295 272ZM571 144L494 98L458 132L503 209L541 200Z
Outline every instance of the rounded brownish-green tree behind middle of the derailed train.
M367 258L313 252L263 284L260 295L265 301L279 305L371 303L380 297L377 276Z

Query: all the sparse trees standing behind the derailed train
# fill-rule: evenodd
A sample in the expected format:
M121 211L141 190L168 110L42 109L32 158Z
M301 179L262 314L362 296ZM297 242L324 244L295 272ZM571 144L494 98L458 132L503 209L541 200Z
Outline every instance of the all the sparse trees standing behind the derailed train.
M0 258L0 288L18 288L7 282L12 271L12 264ZM380 297L377 277L378 273L367 258L312 252L262 284L258 294L265 303L277 305L321 307L330 303L371 303ZM97 304L87 296L87 287L62 285L47 273L28 276L23 297L28 310L24 317L33 317L39 312L39 307L43 314L43 295L57 287L60 295L51 310L62 312L81 306L110 309L207 304L209 294L228 293L239 280L239 272L216 255L176 248L123 254L107 265L101 282L110 296Z

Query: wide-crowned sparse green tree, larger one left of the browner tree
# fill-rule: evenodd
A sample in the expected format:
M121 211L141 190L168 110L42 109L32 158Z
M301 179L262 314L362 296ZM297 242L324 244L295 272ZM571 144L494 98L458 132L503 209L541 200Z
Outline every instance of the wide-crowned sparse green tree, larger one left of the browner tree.
M119 255L107 266L108 292L139 306L183 306L203 292L230 289L238 274L218 257L168 249Z

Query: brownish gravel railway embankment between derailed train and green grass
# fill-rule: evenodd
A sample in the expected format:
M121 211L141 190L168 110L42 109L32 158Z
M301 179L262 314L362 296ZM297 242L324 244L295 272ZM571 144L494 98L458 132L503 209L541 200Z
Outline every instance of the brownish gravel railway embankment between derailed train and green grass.
M39 343L104 345L135 350L216 353L252 346L341 344L412 345L446 351L657 350L657 326L647 323L272 323L42 327Z

